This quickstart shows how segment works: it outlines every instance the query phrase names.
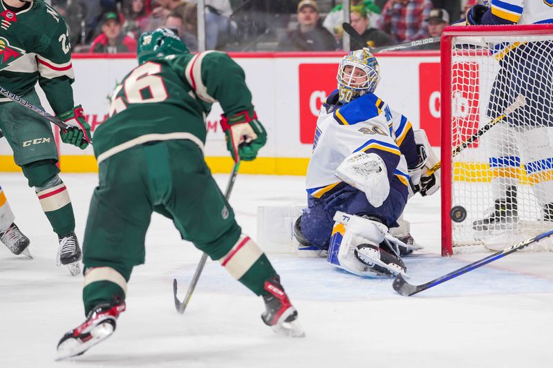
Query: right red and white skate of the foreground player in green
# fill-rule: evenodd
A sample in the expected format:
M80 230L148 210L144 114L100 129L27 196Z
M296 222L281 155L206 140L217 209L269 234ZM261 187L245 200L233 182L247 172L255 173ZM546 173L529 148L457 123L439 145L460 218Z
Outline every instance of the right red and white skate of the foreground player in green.
M268 291L268 294L263 296L263 301L267 310L261 314L265 325L270 326L274 333L281 336L293 338L306 336L299 325L298 312L284 292L279 275L265 281L265 291Z

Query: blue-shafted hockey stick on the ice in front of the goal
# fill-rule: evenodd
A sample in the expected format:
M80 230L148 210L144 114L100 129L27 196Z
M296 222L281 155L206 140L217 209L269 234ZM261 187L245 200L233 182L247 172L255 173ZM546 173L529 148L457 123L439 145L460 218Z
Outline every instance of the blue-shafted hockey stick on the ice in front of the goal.
M516 251L520 251L526 246L529 246L530 244L535 242L539 242L543 238L547 238L552 234L553 234L553 230L546 231L545 233L541 233L539 235L534 236L534 238L529 238L527 240L524 240L523 242L516 243L512 246L509 246L509 248L503 249L503 251L498 251L497 253L488 255L486 258L482 258L482 260L478 260L476 262L468 264L465 267L461 267L456 271L447 273L446 275L443 275L440 278L437 278L435 280L429 281L426 284L422 284L422 285L409 284L409 282L406 282L404 278L402 278L400 275L397 278L395 278L395 280L393 280L393 285L392 285L393 289L398 293L400 293L402 296L412 296L413 294L420 293L421 291L430 289L431 287L435 287L436 285L439 285L442 282L446 282L448 280L451 280L452 278L456 278L457 276L460 276L463 273L467 273L474 269L478 269L478 267L482 267L485 264L488 264L489 262L494 262L494 260L503 258L505 257L505 255L514 253Z

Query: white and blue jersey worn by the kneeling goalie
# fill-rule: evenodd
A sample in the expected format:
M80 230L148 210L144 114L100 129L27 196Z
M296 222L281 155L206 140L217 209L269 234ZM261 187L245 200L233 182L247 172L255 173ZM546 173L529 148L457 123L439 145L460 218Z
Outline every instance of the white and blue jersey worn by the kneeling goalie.
M418 162L411 122L373 93L345 105L337 104L337 93L326 99L317 119L308 194L323 197L346 185L335 176L336 168L348 155L363 151L382 157L391 187L407 199L409 168Z

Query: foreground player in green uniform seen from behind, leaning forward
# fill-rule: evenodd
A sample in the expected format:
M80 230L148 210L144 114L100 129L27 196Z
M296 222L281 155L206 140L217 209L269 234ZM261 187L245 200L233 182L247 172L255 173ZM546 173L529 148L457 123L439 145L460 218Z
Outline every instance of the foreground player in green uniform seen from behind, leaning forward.
M171 218L182 238L263 297L265 324L303 336L279 275L241 233L203 157L205 116L215 101L225 112L221 125L235 161L255 159L265 144L243 70L224 52L191 55L165 28L140 37L138 61L95 132L100 180L83 242L86 320L59 341L59 358L82 354L115 330L131 271L144 263L153 211Z

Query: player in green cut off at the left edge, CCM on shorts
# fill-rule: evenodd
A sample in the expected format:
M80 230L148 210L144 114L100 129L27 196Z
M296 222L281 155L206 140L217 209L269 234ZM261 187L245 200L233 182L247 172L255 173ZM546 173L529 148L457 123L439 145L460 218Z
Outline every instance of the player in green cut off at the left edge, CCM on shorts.
M73 104L71 45L64 19L42 0L0 2L0 86L40 106L35 92L38 82L57 117L74 127L62 130L62 141L86 148L90 126L82 107ZM58 265L67 264L76 275L81 250L71 199L58 176L50 123L10 99L0 98L0 129L58 235Z

